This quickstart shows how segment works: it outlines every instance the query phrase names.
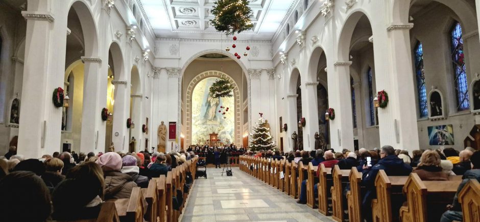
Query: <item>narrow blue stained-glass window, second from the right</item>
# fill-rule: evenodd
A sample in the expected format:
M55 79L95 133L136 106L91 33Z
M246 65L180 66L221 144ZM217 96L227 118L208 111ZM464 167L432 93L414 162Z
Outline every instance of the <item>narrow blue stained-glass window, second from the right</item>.
M418 42L415 47L415 72L417 76L418 109L420 117L428 116L427 92L425 89L425 71L423 70L423 45Z

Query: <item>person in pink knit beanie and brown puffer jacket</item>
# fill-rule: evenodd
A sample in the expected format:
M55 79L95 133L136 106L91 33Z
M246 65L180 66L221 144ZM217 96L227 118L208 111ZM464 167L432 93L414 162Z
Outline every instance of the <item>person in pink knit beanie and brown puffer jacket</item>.
M130 194L137 184L132 176L120 172L122 157L116 152L104 153L95 162L103 170L105 178L105 199L130 198Z

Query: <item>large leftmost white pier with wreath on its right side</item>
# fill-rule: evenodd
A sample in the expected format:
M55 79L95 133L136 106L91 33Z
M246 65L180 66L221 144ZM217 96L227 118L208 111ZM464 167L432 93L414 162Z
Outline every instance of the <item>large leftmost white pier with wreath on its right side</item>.
M31 3L31 4L30 4ZM63 86L66 21L55 21L50 1L29 1L29 10L22 11L27 19L25 69L20 106L18 154L26 159L61 151L62 108L52 104L52 93Z

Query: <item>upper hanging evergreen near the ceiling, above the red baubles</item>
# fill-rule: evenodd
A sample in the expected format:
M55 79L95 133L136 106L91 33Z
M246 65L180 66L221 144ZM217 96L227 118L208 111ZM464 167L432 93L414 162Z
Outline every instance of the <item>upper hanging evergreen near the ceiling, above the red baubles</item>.
M247 0L218 0L210 12L215 16L210 23L226 35L241 33L253 28L253 11Z

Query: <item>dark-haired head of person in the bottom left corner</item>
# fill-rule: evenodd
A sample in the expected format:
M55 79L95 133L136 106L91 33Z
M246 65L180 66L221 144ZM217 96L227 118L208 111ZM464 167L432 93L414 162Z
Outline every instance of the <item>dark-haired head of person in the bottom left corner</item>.
M46 221L52 211L50 192L42 179L29 171L15 171L0 180L2 221Z

